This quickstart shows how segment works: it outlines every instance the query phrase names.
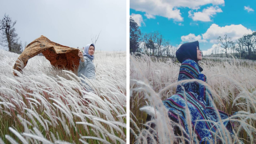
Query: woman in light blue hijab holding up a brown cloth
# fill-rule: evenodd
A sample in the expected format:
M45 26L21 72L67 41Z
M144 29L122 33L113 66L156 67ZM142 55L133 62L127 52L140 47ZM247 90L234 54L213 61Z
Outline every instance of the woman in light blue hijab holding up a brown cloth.
M87 78L95 78L95 65L93 63L94 60L94 52L95 46L94 44L87 44L84 48L84 53L79 51L78 56L80 57L79 68L78 68L78 76L82 77L83 74ZM84 81L82 83L86 84ZM87 85L87 84L86 84ZM89 88L89 90L92 90Z

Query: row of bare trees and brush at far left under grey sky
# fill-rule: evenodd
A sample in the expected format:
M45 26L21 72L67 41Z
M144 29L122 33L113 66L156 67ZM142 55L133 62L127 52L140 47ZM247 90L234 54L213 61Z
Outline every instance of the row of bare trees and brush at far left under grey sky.
M15 33L15 24L16 20L12 21L9 15L4 14L0 21L0 45L8 47L10 52L20 54L23 52L23 47L26 46L27 42L23 45L22 41L19 41L18 34Z

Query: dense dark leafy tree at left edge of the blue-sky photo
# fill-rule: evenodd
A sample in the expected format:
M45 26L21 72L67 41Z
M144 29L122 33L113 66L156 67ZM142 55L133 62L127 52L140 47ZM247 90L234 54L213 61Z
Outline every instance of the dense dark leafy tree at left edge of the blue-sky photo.
M130 17L130 53L137 52L141 38L138 24Z

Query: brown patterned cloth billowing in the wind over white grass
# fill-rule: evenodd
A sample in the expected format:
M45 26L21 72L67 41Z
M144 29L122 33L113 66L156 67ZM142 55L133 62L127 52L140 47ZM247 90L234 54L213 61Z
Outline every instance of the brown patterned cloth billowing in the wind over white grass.
M26 46L25 50L15 62L13 69L22 71L30 58L42 53L53 66L66 68L74 72L74 70L79 67L80 57L78 56L78 52L79 49L77 48L60 45L41 35L41 37ZM19 61L22 61L23 64L20 64ZM15 72L13 72L13 74L17 76Z

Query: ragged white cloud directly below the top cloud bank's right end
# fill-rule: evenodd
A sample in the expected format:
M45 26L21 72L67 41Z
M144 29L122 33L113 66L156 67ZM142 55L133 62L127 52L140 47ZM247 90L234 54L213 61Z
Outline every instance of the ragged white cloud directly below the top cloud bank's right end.
M188 11L188 17L191 17L194 21L212 21L211 17L216 13L222 12L218 6L210 6L207 9L203 9L202 12Z

